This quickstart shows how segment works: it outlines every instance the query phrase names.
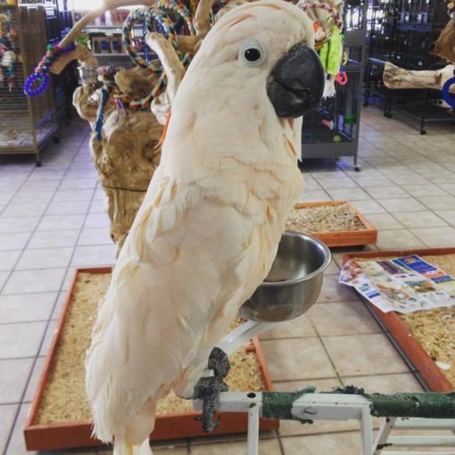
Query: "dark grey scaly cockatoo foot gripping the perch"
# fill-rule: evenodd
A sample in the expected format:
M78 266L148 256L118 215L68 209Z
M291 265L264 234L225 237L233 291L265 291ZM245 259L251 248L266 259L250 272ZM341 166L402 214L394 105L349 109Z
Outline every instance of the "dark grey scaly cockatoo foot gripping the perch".
M227 392L227 384L223 379L229 372L229 360L227 354L219 348L213 348L209 357L209 369L213 370L214 376L201 377L194 386L194 398L203 400L203 431L211 433L219 426L219 418L213 420L213 415L219 408L219 393Z

